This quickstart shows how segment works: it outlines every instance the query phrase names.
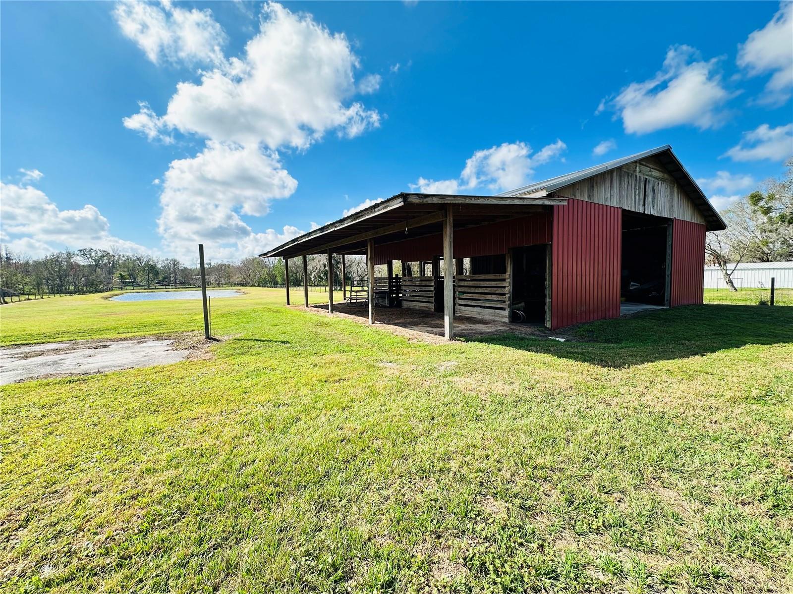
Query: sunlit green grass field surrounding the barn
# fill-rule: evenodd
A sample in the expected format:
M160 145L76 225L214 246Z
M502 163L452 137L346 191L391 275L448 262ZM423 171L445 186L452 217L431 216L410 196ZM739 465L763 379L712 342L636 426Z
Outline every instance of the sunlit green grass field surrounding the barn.
M210 360L4 387L0 591L793 591L793 308L432 345L282 298L213 302ZM201 328L0 316L6 344Z

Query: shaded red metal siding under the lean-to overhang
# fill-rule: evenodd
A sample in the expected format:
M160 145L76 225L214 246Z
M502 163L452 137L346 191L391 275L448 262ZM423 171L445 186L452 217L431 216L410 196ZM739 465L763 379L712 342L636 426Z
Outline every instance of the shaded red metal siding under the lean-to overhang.
M552 234L550 213L459 229L454 232L454 257L506 254L510 247L550 243ZM430 260L442 254L442 236L436 233L416 240L385 243L377 246L374 252L375 264L385 264L388 260Z

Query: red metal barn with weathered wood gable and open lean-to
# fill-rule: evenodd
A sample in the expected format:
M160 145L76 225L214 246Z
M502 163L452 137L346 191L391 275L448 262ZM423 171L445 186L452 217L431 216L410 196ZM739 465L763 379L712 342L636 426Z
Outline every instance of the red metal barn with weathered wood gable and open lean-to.
M705 233L724 228L666 145L504 194L397 194L260 256L302 258L307 278L307 255L366 255L370 323L438 312L450 339L461 316L556 329L702 303Z

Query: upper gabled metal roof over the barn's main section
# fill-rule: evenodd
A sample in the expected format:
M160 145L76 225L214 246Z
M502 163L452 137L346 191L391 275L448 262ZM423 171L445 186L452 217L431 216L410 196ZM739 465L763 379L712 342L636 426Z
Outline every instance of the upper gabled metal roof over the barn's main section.
M596 165L595 167L588 167L587 169L573 171L573 173L546 179L542 182L535 182L529 184L528 186L523 186L521 188L517 188L516 190L510 190L499 195L528 196L531 194L550 194L550 192L560 190L565 186L570 186L576 182L580 182L583 179L591 178L594 175L611 171L612 169L617 169L618 167L623 167L623 165L627 165L628 163L641 161L647 157L655 157L658 159L669 172L669 174L675 178L676 182L680 184L684 192L689 198L691 198L691 201L693 201L703 213L703 216L707 222L708 231L721 231L722 229L727 228L722 217L718 215L716 209L714 209L713 205L711 205L711 201L707 199L705 193L699 187L697 182L695 182L695 179L691 177L691 174L686 171L686 168L683 167L683 163L680 163L680 159L677 158L677 155L675 155L674 151L672 151L672 147L668 144L665 144L662 147L652 148L649 151L639 152L635 155L623 157L622 159L615 159L614 161Z

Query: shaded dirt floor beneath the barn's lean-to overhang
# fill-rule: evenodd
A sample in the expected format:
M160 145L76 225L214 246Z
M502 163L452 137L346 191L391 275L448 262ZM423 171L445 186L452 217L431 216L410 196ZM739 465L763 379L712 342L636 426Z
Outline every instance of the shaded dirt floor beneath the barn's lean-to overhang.
M305 309L301 307L301 309ZM328 304L312 305L309 311L328 314ZM347 317L361 324L369 323L369 308L347 303L334 305L334 316ZM374 323L393 331L394 334L428 343L443 342L443 314L423 309L386 308L374 310ZM468 316L454 316L454 335L458 338L498 334L523 334L548 336L542 324L508 324L492 320L479 320ZM559 335L556 332L553 335Z

